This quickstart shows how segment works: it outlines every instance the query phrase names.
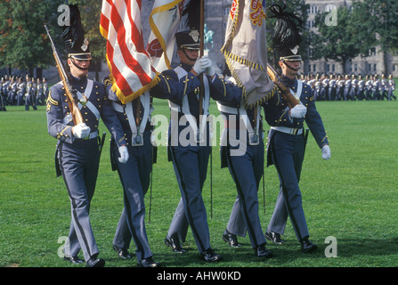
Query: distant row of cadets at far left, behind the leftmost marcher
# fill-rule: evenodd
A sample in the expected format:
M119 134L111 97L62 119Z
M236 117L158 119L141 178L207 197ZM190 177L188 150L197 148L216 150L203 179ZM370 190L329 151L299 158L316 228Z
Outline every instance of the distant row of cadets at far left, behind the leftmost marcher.
M45 105L49 92L47 79L34 78L27 75L25 78L5 75L0 81L0 110L5 106L25 106L29 110L37 110L37 106Z

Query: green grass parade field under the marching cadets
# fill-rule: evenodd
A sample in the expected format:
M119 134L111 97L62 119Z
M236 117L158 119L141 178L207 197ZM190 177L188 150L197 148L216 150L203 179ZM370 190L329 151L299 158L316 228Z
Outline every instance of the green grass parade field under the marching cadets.
M156 113L168 117L167 102L155 101L154 106ZM191 250L183 256L173 253L164 239L180 192L166 147L159 147L147 223L155 260L165 267L398 266L398 103L317 102L317 108L328 131L331 159L321 159L321 150L310 134L300 182L311 240L319 246L315 254L301 253L289 221L283 236L287 242L282 246L268 243L275 255L272 259L254 256L248 236L239 239L243 247L237 249L223 242L236 189L228 169L220 168L217 147L213 148L212 210L210 169L203 197L212 248L224 260L210 265L200 261L191 232L184 244ZM62 178L55 177L56 140L47 134L45 106L38 109L27 112L24 107L7 107L0 112L0 266L79 267L58 256L60 239L69 232L69 197ZM215 104L212 113L218 115ZM103 125L100 131L105 131ZM258 195L265 230L279 191L274 167L265 169L264 181L265 197L262 184ZM149 193L145 202L148 221ZM110 169L106 143L91 208L93 232L106 266L135 267L135 258L122 261L112 249L122 208L121 184ZM328 237L337 240L337 257L325 256ZM134 243L130 251L134 254Z

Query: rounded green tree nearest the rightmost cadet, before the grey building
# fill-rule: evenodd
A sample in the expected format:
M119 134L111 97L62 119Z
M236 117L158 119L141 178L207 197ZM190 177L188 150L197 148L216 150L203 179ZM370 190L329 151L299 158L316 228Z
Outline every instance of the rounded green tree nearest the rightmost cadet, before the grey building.
M330 12L319 13L315 17L311 48L313 60L324 58L326 61L340 62L345 73L345 64L361 54L361 40L356 26L353 25L353 12L349 7L337 8L337 25L329 24Z

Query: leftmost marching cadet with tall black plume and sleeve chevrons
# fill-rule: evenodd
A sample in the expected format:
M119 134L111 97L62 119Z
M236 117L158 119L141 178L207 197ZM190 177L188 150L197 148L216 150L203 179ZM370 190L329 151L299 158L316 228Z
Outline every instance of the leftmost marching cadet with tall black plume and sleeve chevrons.
M77 256L83 250L87 267L102 267L105 261L98 258L99 249L93 236L89 210L95 189L100 163L98 127L100 118L110 130L120 153L120 162L126 162L128 151L120 122L105 93L105 86L87 78L92 59L88 41L81 28L80 14L76 5L69 5L70 26L66 26L62 39L67 43L70 85L77 91L81 116L84 123L74 125L69 102L62 82L53 85L47 100L46 114L48 133L57 138L55 165L57 175L65 181L70 204L71 224L64 259L79 264ZM77 37L72 37L75 33ZM58 64L58 62L57 62Z

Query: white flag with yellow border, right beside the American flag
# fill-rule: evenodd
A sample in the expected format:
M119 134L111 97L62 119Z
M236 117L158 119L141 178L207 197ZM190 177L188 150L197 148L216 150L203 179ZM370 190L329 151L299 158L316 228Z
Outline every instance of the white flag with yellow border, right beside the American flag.
M147 52L152 66L161 72L171 69L175 52L175 33L182 18L184 4L189 0L155 0L150 12L150 39ZM165 52L166 51L166 52Z

